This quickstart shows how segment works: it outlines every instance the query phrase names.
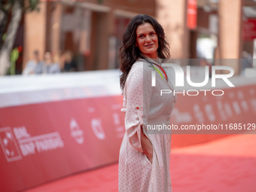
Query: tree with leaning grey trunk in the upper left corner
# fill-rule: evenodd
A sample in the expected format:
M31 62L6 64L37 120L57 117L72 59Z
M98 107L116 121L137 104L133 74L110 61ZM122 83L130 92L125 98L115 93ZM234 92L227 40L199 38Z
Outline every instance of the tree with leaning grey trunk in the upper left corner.
M1 0L0 75L5 75L8 68L11 66L10 55L23 14L25 14L26 11L39 10L39 3L40 0Z

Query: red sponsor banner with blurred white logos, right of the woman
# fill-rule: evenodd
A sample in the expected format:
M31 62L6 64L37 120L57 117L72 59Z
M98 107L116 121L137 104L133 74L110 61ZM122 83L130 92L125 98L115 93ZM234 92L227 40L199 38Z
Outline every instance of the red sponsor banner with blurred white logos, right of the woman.
M255 84L224 89L221 96L192 91L178 95L172 111L172 134L256 134Z

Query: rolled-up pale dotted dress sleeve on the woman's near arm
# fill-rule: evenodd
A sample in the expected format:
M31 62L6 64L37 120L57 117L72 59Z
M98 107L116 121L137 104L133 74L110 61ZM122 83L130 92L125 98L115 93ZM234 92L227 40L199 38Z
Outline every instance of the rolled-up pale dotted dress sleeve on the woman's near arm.
M151 102L151 73L143 62L136 63L126 82L125 127L130 144L142 151L141 134L148 123Z

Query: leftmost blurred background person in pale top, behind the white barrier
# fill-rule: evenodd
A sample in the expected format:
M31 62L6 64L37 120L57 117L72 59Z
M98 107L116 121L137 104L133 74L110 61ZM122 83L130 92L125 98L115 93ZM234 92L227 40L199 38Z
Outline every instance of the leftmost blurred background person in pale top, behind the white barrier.
M25 69L23 69L23 75L41 74L43 70L43 62L39 59L38 50L34 50L33 59L26 63Z

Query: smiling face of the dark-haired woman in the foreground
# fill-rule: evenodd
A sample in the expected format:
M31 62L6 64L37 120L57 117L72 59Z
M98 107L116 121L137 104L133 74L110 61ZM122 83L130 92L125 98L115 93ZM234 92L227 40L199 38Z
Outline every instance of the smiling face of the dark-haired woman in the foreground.
M152 59L157 58L158 38L150 23L143 23L136 30L136 47Z

